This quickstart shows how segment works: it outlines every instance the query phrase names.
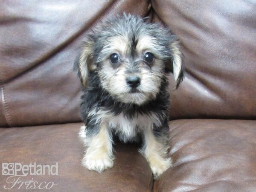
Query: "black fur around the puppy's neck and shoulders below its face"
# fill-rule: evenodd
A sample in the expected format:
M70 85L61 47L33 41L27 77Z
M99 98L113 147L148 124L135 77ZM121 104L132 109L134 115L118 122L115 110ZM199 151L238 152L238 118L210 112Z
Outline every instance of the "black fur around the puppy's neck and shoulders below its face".
M156 99L146 102L143 105L126 104L114 99L100 84L99 76L96 71L92 71L88 79L89 88L82 88L81 96L81 116L87 126L87 134L96 134L99 131L99 125L96 124L96 116L88 118L88 113L93 108L99 111L100 108L111 111L115 115L123 113L129 119L138 114L150 115L157 114L164 129L169 130L169 93L166 90L168 81L164 76L162 79L160 91ZM155 136L162 136L161 127L154 126Z

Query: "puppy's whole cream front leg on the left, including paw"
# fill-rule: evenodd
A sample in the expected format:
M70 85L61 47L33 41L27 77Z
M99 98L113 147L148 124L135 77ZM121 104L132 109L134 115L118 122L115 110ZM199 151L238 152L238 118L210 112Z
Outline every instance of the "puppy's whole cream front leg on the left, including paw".
M87 135L86 131L85 135L80 134L87 147L82 165L97 172L113 167L112 135L107 124L101 123L97 133Z

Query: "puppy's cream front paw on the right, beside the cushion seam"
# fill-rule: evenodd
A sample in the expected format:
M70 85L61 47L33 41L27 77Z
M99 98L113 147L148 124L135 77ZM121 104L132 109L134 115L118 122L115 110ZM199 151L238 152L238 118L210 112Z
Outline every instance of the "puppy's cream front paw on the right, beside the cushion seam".
M159 159L158 161L149 162L150 168L154 175L154 180L157 180L170 166L172 166L172 159Z

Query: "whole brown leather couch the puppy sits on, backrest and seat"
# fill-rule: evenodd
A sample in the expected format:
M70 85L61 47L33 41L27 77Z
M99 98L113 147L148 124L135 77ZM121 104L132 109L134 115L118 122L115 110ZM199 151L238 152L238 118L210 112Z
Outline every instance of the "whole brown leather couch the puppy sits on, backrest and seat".
M101 174L81 166L73 61L88 30L124 11L168 26L184 54L184 81L169 80L174 164L156 181L137 144L117 142ZM0 2L0 163L58 162L58 175L20 178L56 184L34 191L255 192L255 119L255 0ZM7 178L0 191L27 191Z

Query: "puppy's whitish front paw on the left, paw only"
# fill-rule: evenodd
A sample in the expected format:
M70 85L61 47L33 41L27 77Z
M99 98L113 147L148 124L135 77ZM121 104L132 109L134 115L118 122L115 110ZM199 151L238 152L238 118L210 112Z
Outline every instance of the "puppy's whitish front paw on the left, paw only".
M82 165L89 170L103 172L105 169L113 167L113 159L108 154L99 154L96 157L86 155L82 160Z

